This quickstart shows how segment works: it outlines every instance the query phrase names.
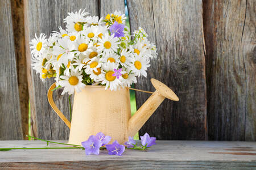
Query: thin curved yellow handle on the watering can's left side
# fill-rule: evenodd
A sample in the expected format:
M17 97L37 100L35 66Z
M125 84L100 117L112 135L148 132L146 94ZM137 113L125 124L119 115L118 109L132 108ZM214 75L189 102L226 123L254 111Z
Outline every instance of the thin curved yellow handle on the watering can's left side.
M57 108L56 104L54 103L53 99L52 99L52 93L53 93L53 89L56 87L56 84L53 83L52 86L49 88L48 90L48 101L49 104L51 105L51 107L53 108L53 110L57 113L57 115L61 118L61 120L64 121L64 123L68 126L68 128L70 129L71 123L68 121L68 119L63 115L63 113L60 112L60 109Z

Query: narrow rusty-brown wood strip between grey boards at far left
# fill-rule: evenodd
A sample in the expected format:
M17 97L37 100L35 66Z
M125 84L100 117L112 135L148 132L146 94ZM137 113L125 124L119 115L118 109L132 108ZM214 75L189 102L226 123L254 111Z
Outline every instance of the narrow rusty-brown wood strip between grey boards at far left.
M11 0L16 70L18 75L20 112L22 116L22 132L23 139L28 139L26 137L28 134L28 86L23 7L23 0Z

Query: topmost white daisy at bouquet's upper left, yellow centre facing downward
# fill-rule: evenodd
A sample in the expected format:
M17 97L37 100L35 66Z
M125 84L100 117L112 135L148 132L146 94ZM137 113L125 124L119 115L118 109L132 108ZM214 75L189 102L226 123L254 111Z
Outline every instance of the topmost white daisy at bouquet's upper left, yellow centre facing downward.
M67 23L67 31L68 32L80 32L82 31L83 26L86 26L88 21L85 19L85 16L88 15L88 12L85 10L79 10L75 13L69 12L67 18L64 19L64 23Z

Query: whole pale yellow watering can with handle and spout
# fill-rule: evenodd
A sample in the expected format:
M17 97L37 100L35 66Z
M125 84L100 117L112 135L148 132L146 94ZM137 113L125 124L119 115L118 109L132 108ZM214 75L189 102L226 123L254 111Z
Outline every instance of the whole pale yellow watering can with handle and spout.
M72 121L56 107L52 99L55 83L48 90L48 101L53 110L70 128L68 143L81 145L90 135L102 132L112 137L113 142L125 143L133 137L150 118L165 98L179 101L175 93L165 84L151 79L156 91L145 101L131 117L129 88L117 91L105 90L104 86L86 86L81 92L75 92Z

